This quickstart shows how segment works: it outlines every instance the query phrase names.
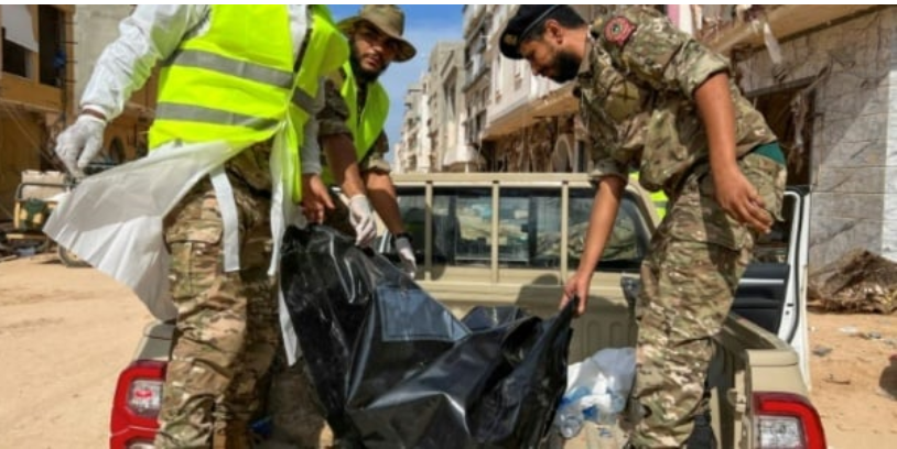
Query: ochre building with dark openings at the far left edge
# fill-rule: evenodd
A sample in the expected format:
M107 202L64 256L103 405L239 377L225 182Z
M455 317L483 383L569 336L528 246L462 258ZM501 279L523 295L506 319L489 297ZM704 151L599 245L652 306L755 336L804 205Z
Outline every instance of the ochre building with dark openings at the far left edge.
M0 221L25 169L57 169L52 138L74 103L74 6L0 7Z

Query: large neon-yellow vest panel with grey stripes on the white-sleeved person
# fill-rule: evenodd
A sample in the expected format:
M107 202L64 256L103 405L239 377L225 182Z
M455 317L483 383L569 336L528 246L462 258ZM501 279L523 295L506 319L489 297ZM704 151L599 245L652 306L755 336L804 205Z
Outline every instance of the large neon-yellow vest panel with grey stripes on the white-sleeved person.
M248 145L273 135L295 77L284 6L213 4L208 30L181 43L162 66L150 147L227 140ZM269 23L264 33L248 23Z

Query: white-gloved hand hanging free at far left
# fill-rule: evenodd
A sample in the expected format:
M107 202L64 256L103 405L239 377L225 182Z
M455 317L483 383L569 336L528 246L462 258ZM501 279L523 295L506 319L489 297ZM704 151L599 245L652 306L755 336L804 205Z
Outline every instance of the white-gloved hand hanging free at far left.
M102 147L105 129L106 122L102 119L83 113L56 138L56 155L65 164L68 173L84 177L84 168Z

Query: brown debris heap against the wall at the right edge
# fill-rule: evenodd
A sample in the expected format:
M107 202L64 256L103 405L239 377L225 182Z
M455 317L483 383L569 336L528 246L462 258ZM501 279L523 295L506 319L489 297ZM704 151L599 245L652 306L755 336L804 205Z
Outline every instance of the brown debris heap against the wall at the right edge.
M897 263L866 250L810 274L808 306L820 313L890 315L897 310Z

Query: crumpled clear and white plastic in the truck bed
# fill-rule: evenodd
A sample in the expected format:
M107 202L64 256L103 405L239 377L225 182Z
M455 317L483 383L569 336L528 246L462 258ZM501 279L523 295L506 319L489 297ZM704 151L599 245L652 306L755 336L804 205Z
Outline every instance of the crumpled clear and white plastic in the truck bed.
M572 438L586 420L613 424L626 406L635 373L635 348L603 349L570 365L554 426L564 438Z

